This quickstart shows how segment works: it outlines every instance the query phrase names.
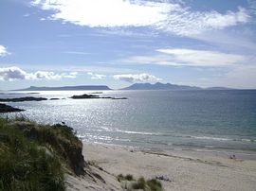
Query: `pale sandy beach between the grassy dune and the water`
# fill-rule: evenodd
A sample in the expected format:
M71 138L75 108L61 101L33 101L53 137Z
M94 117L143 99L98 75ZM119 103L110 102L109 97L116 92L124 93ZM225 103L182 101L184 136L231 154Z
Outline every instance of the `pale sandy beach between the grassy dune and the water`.
M253 191L256 188L255 160L234 160L229 159L229 155L182 151L158 153L108 145L83 145L86 162L104 181L90 182L88 186L84 179L73 180L77 189L122 190L115 179L119 174L146 179L162 177L160 182L167 191Z

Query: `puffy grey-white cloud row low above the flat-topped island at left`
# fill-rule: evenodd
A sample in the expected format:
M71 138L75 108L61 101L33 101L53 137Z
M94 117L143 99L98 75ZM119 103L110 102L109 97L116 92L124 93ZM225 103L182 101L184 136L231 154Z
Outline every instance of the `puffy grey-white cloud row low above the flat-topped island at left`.
M13 81L18 79L59 80L61 78L76 78L76 76L77 76L76 72L71 72L68 74L67 73L56 74L54 72L47 72L47 71L37 71L35 73L27 73L26 71L16 66L0 68L0 80L5 80L5 81Z

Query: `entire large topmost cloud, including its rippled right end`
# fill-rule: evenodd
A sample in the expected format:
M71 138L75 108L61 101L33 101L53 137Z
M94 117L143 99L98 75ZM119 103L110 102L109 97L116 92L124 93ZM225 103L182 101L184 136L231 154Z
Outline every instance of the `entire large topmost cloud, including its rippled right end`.
M149 26L181 36L247 23L247 9L193 11L181 3L146 0L33 0L41 9L53 10L49 17L79 26Z

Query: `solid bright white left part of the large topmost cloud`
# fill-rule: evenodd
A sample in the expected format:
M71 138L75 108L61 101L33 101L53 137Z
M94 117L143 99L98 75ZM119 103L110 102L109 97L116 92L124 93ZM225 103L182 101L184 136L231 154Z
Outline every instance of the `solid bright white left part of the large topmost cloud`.
M36 0L32 5L52 9L52 19L80 26L151 26L177 5L123 0Z

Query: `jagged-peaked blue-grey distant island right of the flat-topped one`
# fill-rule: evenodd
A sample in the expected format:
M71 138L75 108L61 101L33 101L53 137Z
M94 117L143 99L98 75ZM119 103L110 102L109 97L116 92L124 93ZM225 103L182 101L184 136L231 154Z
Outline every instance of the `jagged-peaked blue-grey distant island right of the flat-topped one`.
M176 85L171 83L135 83L129 87L121 90L202 90L200 87L187 86L187 85Z

